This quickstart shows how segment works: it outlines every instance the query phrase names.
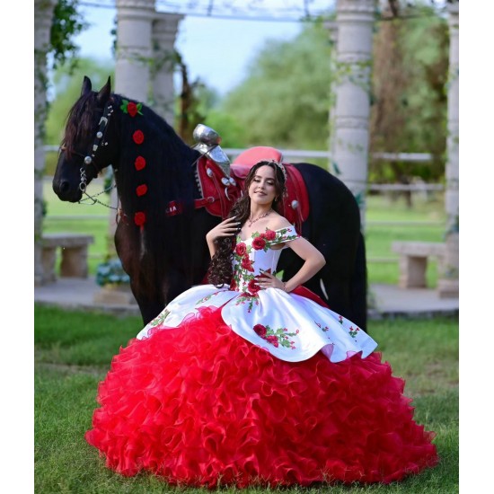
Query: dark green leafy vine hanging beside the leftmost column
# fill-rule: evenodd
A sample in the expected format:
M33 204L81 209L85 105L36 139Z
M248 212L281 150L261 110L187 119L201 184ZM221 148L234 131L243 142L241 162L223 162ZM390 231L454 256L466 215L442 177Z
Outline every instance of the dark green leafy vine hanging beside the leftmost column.
M52 68L68 62L72 69L77 64L79 49L74 43L74 38L88 27L87 22L84 22L77 12L78 4L79 0L58 0L55 5L49 39Z

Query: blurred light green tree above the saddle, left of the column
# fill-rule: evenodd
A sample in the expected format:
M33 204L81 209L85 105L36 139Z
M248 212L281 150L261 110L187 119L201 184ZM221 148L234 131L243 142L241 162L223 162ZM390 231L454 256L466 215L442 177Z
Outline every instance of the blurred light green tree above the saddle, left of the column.
M220 108L243 129L243 146L327 147L330 57L321 23L305 26L296 40L266 42Z

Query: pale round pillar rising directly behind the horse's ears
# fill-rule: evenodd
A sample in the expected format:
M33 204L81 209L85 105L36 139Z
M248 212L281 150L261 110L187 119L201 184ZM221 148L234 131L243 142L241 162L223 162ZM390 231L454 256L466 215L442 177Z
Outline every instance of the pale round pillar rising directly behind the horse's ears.
M147 103L155 0L116 0L117 54L114 92Z

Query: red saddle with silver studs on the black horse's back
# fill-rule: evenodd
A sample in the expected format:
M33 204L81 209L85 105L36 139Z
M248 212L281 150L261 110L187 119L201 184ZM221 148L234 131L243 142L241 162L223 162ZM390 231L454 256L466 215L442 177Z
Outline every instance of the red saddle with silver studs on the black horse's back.
M281 161L281 153L273 147L253 147L240 154L230 167L228 181L216 163L203 156L198 161L198 181L203 198L196 207L206 207L213 216L225 218L234 202L243 193L245 178L251 167L260 160ZM293 164L283 163L287 170L287 195L283 198L283 216L301 232L302 223L309 216L309 197L301 173Z

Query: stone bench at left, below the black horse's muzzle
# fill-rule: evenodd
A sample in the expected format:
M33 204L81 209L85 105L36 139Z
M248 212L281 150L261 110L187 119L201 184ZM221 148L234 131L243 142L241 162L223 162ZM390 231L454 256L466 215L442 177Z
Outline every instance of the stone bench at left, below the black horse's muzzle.
M44 282L57 280L57 249L60 249L60 277L87 278L87 250L94 243L93 235L85 234L43 234L42 263Z

